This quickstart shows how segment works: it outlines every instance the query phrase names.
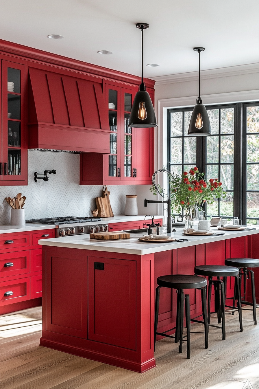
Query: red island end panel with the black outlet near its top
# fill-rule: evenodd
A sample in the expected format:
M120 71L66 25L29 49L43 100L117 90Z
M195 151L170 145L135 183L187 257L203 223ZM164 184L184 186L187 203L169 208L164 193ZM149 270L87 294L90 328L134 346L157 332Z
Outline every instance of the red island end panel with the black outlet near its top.
M88 257L88 274L89 340L136 350L136 262Z

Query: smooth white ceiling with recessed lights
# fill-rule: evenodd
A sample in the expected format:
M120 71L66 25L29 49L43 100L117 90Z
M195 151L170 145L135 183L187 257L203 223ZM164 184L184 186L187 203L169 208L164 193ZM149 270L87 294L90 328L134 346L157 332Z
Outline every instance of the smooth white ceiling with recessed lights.
M145 77L259 62L258 0L0 0L0 39ZM49 34L64 39L48 39ZM113 51L111 55L97 54Z

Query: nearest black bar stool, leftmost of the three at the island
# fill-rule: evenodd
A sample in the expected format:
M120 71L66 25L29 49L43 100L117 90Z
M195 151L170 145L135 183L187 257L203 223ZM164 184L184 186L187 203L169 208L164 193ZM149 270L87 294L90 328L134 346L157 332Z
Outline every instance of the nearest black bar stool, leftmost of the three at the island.
M190 333L203 333L203 332L191 332L191 321L204 324L204 333L205 333L205 349L208 348L208 323L207 323L207 309L206 309L206 285L207 280L203 277L198 277L196 275L163 275L157 279L158 287L156 288L156 300L155 300L155 342L154 342L154 351L156 345L156 335L167 336L168 338L174 338L174 342L180 342L179 352L183 352L182 344L183 341L187 341L187 358L191 357L191 341ZM177 312L176 312L176 327L168 329L164 332L157 332L158 324L158 310L159 310L159 295L160 287L177 289ZM184 289L201 289L202 293L202 315L203 321L190 319L190 301L189 294L184 296ZM184 317L184 297L185 297L185 320L187 335L183 336L183 317ZM175 336L167 335L167 332L176 330ZM186 338L187 340L183 339Z

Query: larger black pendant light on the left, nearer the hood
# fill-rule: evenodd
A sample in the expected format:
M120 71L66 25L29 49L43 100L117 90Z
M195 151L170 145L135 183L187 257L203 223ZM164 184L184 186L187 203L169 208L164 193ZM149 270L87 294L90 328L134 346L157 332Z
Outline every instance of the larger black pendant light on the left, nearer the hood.
M149 25L148 23L137 23L136 27L141 30L141 84L130 111L129 127L157 127L154 107L143 82L143 30Z

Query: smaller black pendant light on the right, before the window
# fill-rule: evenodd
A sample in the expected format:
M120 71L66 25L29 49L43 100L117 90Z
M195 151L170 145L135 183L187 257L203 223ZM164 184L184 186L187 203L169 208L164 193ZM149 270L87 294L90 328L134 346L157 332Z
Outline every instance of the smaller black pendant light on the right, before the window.
M199 97L197 98L197 104L193 108L188 135L206 137L211 135L210 120L207 109L202 104L202 99L200 98L200 52L205 49L204 47L194 47L193 50L199 53Z

